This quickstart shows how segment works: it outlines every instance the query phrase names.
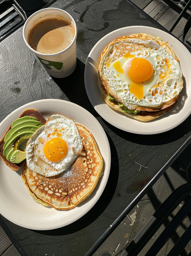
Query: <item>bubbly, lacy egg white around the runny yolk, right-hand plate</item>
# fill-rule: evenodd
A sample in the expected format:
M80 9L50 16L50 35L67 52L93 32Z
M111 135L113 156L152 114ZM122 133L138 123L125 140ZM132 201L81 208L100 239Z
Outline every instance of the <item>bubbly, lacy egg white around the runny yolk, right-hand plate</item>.
M151 45L153 47L152 41L145 40L145 42L141 42L141 40L130 39L129 42L131 47L133 47L132 45L135 43L147 46ZM156 43L154 42L154 45L155 44ZM130 93L129 91L132 81L128 77L127 66L133 58L130 56L126 57L126 53L124 56L117 58L116 50L113 50L112 53L112 47L113 46L108 50L108 52L111 52L111 56L105 55L102 60L101 75L107 81L106 90L109 88L112 96L114 98L116 96L118 101L125 106L139 105L144 107L157 107L179 95L183 84L181 67L179 62L164 48L157 45L155 50L135 50L130 53L133 58L138 57L147 59L153 67L152 77L148 81L142 83L144 92L143 97L138 99L135 94ZM115 59L112 59L113 54L115 54ZM109 66L107 65L108 59L111 61L111 65ZM123 73L118 72L114 68L116 62L120 63ZM164 75L160 76L162 73Z

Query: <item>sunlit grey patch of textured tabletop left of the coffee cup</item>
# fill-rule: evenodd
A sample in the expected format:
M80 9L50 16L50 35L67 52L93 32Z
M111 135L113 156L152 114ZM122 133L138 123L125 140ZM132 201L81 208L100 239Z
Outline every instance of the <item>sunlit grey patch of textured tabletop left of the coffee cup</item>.
M0 63L0 121L28 102L67 99L36 56L27 49L22 28L0 43Z

